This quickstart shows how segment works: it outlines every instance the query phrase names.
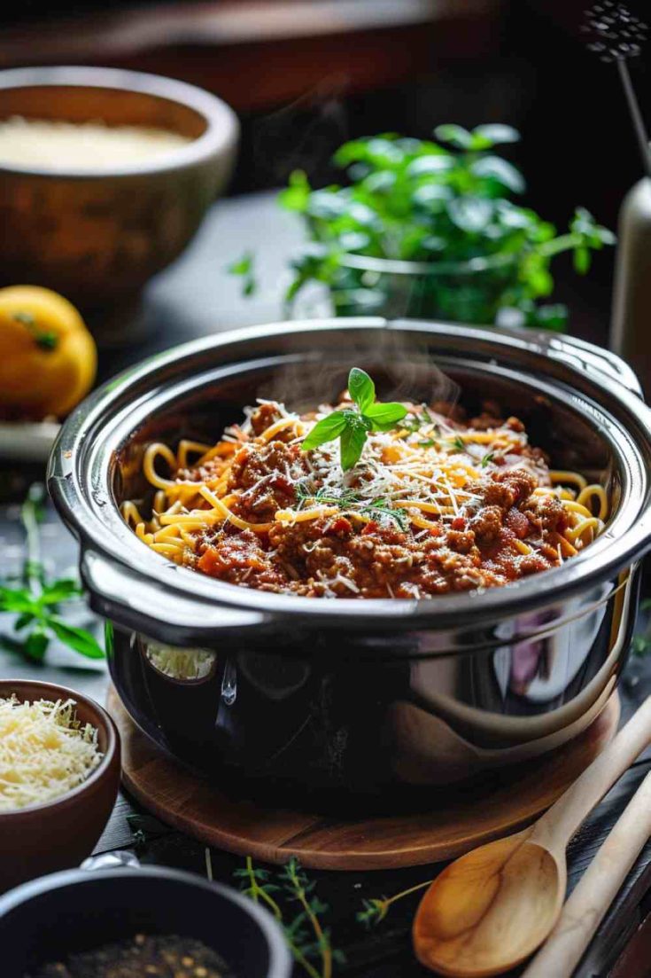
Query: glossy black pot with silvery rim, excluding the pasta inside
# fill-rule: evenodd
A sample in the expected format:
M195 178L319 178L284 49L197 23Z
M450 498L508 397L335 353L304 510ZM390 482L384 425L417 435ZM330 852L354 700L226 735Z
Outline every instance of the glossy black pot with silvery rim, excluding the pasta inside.
M382 396L497 400L554 467L606 487L604 533L562 567L430 600L239 588L144 546L118 504L152 440L216 439L257 396L300 408L351 365ZM113 682L165 749L224 783L282 782L391 807L416 787L536 764L598 715L627 655L649 546L651 412L629 368L552 333L436 323L283 323L210 337L111 381L66 422L49 484L112 623ZM183 651L185 650L185 651ZM338 790L337 790L338 789ZM310 803L314 799L310 798Z

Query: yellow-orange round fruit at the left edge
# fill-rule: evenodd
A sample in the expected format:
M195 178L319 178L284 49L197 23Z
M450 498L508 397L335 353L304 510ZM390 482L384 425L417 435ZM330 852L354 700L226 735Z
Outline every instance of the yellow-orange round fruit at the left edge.
M95 341L67 299L39 286L0 289L0 409L63 417L96 370Z

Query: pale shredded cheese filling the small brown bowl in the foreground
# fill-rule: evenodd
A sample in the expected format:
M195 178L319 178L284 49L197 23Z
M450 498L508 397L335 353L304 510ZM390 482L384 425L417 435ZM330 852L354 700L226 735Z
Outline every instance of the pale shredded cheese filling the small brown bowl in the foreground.
M0 813L53 801L81 784L103 754L72 699L0 697Z

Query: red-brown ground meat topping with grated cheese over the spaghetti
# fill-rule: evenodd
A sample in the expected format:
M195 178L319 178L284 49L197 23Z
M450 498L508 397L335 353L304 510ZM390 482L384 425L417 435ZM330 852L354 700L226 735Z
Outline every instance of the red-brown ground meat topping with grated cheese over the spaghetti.
M340 406L350 408L348 402ZM419 406L408 407L418 416ZM459 432L466 430L461 409L452 410L448 405L440 413L445 418L436 422L430 444L439 436L453 440L455 432L451 435L446 419L454 418ZM382 482L386 472L382 473L381 466L377 471L362 464L339 485L332 478L327 456L324 467L323 458L320 462L304 453L292 426L278 431L271 440L263 437L284 417L274 403L262 404L252 412L250 440L238 446L230 461L225 502L236 516L257 526L255 531L241 529L227 520L215 521L203 530L186 561L203 573L268 592L409 599L499 587L560 562L554 534L566 529L567 510L555 496L534 495L538 486L549 484L546 456L528 445L522 422L499 418L497 405L485 403L467 427L508 429L515 436L502 433L494 446L490 436L477 440L467 453L467 467L478 473L472 480L463 474L466 463L462 459L460 478L458 468L443 467L466 495L458 493L455 499L452 489L448 497L444 493L443 498L452 497L454 505L444 503L442 512L438 511L441 497L436 494L440 476L431 476L431 498L437 507L424 506L423 511L413 506L392 513L392 507L406 500L400 496L400 487L396 493L390 480ZM420 424L426 422L431 419L421 413ZM456 459L457 448L448 458ZM395 466L401 459L391 441L381 443L375 451L385 466ZM460 450L458 455L462 455ZM224 466L224 459L217 458L177 474L188 480L214 479ZM425 476L425 483L429 477ZM390 490L386 498L380 495L384 485ZM373 486L379 488L373 490ZM421 496L418 499L425 502ZM324 506L325 515L301 519L301 508L315 504ZM279 510L291 510L294 515L277 519ZM270 526L261 527L261 523Z

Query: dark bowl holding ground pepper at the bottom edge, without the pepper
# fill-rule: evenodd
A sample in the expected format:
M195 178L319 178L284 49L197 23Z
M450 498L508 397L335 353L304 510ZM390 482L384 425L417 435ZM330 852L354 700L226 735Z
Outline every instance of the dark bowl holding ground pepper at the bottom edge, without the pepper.
M289 978L282 932L271 914L235 890L160 867L71 869L0 897L3 978L24 978L134 934L179 934L213 948L235 978Z

